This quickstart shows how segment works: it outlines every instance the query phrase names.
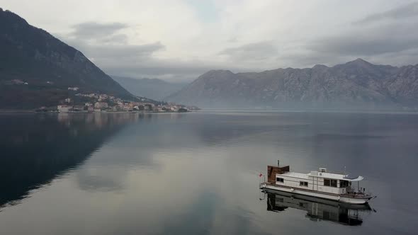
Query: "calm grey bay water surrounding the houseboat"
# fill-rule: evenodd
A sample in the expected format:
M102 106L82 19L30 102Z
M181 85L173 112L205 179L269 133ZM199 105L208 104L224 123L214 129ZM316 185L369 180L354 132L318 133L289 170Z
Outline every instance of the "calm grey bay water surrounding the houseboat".
M0 127L0 234L418 233L418 115L0 115ZM264 195L259 173L278 159L345 167L378 197L364 210Z

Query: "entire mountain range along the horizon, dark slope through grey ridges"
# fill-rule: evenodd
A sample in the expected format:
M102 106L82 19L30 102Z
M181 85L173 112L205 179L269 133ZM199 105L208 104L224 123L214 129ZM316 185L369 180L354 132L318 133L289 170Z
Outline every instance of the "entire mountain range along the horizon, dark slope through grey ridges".
M394 67L363 59L334 67L212 70L187 86L114 79L126 89L79 50L0 8L0 109L57 105L74 96L70 87L79 88L78 93L132 101L145 96L203 108L417 108L418 101L418 64Z

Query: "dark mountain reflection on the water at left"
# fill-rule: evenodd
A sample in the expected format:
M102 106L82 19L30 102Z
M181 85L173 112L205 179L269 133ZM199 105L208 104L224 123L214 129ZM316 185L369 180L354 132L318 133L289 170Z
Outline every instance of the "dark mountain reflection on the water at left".
M0 115L0 207L77 168L138 118L130 114Z

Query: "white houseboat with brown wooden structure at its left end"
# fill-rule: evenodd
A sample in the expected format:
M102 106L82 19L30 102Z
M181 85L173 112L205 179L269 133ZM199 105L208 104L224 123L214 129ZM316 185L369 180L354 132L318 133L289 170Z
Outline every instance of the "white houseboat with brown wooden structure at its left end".
M279 163L279 162L278 162ZM326 168L310 173L295 173L289 166L267 166L267 181L262 189L319 197L349 204L365 204L373 198L360 187L363 176L327 172Z

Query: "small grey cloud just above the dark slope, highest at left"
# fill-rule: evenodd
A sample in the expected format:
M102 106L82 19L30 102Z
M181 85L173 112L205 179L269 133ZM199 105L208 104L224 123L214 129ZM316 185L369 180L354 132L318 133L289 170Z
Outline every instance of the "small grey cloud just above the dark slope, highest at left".
M124 28L128 28L125 23L86 22L74 25L74 32L71 35L80 39L97 39L113 35Z

